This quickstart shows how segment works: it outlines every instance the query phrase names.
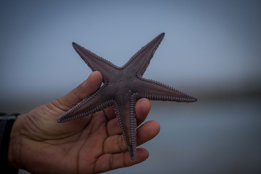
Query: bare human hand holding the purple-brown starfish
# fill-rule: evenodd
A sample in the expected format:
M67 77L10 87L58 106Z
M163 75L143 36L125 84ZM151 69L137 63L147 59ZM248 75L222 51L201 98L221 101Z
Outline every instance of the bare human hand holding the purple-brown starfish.
M56 122L101 83L102 75L95 71L67 95L17 116L10 135L9 165L31 173L100 173L146 160L149 152L138 148L131 161L113 106L70 122ZM150 108L148 99L137 101L137 126ZM141 125L137 146L155 137L159 129L156 121Z

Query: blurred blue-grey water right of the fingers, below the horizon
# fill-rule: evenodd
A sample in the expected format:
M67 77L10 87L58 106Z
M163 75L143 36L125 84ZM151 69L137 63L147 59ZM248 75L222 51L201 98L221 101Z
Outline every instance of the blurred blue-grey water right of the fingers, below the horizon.
M149 158L107 173L260 173L260 103L254 97L152 101L146 121L158 121L161 131L140 146Z

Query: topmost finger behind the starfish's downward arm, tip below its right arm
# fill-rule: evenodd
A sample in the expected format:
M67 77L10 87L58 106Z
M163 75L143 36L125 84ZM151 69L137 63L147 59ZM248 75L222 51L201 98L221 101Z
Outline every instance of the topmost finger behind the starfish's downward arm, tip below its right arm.
M135 105L135 112L137 116L137 127L144 122L151 109L150 100L146 98L139 99ZM112 114L112 113L111 113ZM115 117L115 113L113 114ZM107 116L109 118L109 116ZM117 118L111 119L107 124L107 131L109 136L122 134Z

